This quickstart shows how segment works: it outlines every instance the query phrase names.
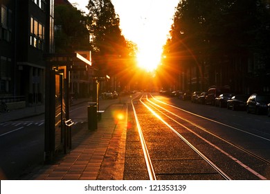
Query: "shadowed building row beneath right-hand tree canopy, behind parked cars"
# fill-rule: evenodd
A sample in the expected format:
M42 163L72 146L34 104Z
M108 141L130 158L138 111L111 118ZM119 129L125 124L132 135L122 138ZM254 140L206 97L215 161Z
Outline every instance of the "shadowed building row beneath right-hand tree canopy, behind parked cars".
M260 62L256 53L234 58L225 56L212 63L190 60L179 64L186 66L167 70L169 73L165 75L170 76L159 76L163 80L163 88L170 91L208 91L209 87L217 86L229 87L236 94L270 93L270 66Z

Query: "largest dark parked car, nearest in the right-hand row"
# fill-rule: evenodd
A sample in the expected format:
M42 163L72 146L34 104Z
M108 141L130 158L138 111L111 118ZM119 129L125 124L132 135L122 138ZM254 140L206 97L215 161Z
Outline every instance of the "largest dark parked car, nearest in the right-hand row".
M246 112L255 112L255 114L266 114L267 105L270 103L270 95L251 94L246 101Z

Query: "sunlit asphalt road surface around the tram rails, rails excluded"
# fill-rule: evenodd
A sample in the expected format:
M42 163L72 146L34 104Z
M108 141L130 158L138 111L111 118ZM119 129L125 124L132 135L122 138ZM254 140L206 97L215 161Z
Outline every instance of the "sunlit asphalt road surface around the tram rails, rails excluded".
M233 146L240 146L270 161L269 117L247 114L246 112L233 112L226 108L211 105L199 105L168 96L158 95L154 97L161 102L168 103L169 105L164 105L161 102L158 104L172 112L174 115L171 114L170 116L189 127L190 131L179 127L178 124L164 116L162 114L162 112L165 112L164 109L161 109L161 112L157 109L154 109L154 111L170 127L177 130L206 157L209 157L211 161L228 173L231 179L270 178L269 162L266 164L263 161L258 161ZM194 155L194 152L190 151L183 144L183 141L175 138L175 134L172 134L168 126L159 122L159 119L153 116L142 103L136 100L134 104L157 179L222 179L213 169ZM129 112L129 117L132 117L132 114L133 112ZM185 119L195 125L191 125ZM208 130L208 133L201 129ZM210 133L233 145L221 141ZM198 138L198 136L205 140ZM214 145L210 145L206 141ZM125 179L148 179L136 127L132 127L127 133L127 142L129 143L127 143ZM216 148L219 148L219 150ZM132 152L132 150L135 151ZM249 170L246 170L246 168ZM255 169L255 173L253 169Z

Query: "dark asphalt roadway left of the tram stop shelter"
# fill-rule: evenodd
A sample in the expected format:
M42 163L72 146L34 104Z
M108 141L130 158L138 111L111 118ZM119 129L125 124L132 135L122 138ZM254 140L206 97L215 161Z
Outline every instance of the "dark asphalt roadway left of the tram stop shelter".
M1 179L17 179L44 159L44 115L1 125Z

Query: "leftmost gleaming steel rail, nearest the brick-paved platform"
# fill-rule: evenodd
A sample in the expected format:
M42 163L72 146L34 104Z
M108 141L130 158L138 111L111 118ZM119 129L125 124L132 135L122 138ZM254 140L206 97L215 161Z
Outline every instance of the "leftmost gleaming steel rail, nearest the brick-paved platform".
M142 97L143 96L141 96L141 98ZM141 100L141 98L140 98L140 100ZM134 104L133 104L134 99L132 99L132 108L133 108L133 112L134 112L134 116L135 116L135 120L136 120L136 124L137 124L138 134L139 134L140 140L141 140L141 145L142 145L142 148L143 148L143 155L145 157L145 164L146 164L146 167L147 167L147 172L148 172L150 180L156 180L156 174L154 173L154 167L152 165L152 161L151 161L148 149L147 149L147 145L146 145L145 139L143 137L143 131L141 130L141 125L140 125L140 123L138 121L136 110L135 110L135 107L134 107Z

